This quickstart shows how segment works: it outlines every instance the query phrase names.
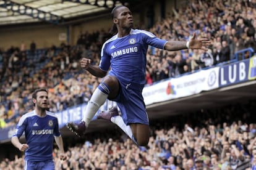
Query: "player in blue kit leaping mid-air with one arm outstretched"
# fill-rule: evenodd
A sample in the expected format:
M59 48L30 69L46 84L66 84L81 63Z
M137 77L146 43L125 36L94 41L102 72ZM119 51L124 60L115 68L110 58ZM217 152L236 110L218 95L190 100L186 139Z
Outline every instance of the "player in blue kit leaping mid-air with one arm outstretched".
M106 99L114 100L121 110L103 111L98 118L108 119L134 140L137 145L145 146L149 139L149 121L143 102L142 89L145 84L146 54L148 45L167 51L181 49L202 49L207 51L210 44L207 38L195 39L195 33L188 42L166 41L144 30L134 30L132 12L125 6L117 6L111 12L113 33L111 39L103 44L99 66L90 65L90 59L80 60L83 69L92 75L103 78L88 102L85 116L80 123L68 123L67 127L79 136Z

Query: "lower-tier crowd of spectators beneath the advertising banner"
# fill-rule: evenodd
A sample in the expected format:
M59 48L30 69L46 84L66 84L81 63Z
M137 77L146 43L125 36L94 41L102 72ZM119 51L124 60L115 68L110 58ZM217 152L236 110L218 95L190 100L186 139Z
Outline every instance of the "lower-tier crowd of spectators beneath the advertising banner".
M256 101L151 121L148 147L138 148L118 129L64 139L68 159L56 169L255 169ZM200 119L198 120L198 117ZM81 140L80 140L81 141ZM0 169L23 168L23 157L3 160Z

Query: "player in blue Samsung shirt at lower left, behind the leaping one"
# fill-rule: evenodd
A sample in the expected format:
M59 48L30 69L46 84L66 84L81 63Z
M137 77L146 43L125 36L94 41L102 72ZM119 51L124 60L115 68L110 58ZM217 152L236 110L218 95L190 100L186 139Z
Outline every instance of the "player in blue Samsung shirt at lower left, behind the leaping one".
M53 138L61 152L61 160L66 160L58 119L54 113L46 111L48 107L46 89L37 89L33 92L32 100L35 110L20 118L11 142L20 151L25 152L24 169L54 169ZM23 132L27 144L21 144L19 141Z

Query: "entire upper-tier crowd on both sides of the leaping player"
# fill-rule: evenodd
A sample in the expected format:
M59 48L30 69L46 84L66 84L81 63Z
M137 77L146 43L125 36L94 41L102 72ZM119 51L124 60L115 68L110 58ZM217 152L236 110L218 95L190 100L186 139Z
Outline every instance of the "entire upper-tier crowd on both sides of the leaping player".
M255 19L254 1L190 1L174 10L149 31L179 41L188 41L195 32L197 38L211 39L212 46L205 53L191 49L168 52L150 46L147 84L231 62L242 49L251 47L256 51ZM33 41L28 51L22 44L0 52L0 128L12 126L33 109L31 92L38 87L49 89L49 110L53 112L87 102L101 79L80 70L79 60L88 57L98 65L101 45L110 36L106 30L85 32L77 39L77 46L36 49ZM250 55L245 52L236 57L241 60Z

